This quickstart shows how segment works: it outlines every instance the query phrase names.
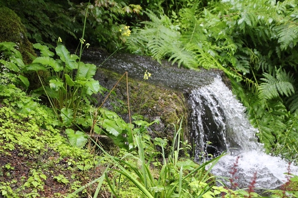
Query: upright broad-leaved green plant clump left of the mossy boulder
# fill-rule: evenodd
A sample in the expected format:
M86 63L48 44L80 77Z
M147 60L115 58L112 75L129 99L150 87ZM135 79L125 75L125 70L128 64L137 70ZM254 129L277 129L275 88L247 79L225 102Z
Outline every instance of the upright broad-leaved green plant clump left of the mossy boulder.
M56 115L70 126L80 113L83 102L90 104L91 95L100 90L99 82L93 79L96 66L77 62L79 57L71 55L63 45L55 48L59 59L52 58L54 54L46 46L35 44L34 47L41 51L41 56L26 66L26 70L48 70L51 73L45 82L38 74L42 87L37 91L48 97ZM75 69L78 69L76 75Z

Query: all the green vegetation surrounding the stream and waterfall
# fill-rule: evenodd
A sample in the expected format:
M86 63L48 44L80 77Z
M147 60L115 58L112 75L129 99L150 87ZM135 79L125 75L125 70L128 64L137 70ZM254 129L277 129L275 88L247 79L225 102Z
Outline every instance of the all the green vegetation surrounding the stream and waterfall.
M35 6L48 2L48 7ZM297 66L295 0L263 4L241 0L147 1L153 8L167 4L173 10L148 10L151 22L143 29L133 24L142 18L138 15L141 7L128 2L96 0L78 5L67 1L65 7L52 0L27 3L28 9L22 9L22 2L15 10L23 15L29 38L51 44L34 44L40 56L24 64L17 44L0 43L2 197L261 197L254 192L255 177L247 189L239 189L235 178L216 183L218 178L209 172L221 156L194 163L187 155L192 146L182 141L181 120L173 123L175 135L168 145L167 139L152 139L148 134L148 127L158 121L148 123L141 116L130 117L128 99L128 123L100 104L93 106L92 95L109 90L93 79L96 66L81 62L82 51L90 45L84 39L89 34L110 50L118 50L127 41L133 53L157 60L168 58L191 68L222 69L248 107L267 151L296 159L297 98L291 73L296 73ZM11 7L15 1L1 1L1 5ZM32 7L38 7L37 11L31 12ZM94 18L87 17L88 13ZM131 13L135 19L128 21L134 30L127 37L130 30L121 17ZM57 18L48 18L56 14ZM72 23L71 17L80 18L84 28ZM58 28L51 31L53 26ZM83 36L78 53L71 54L59 36L76 38L77 32ZM33 73L40 87L27 93L32 86L28 78ZM149 77L146 71L144 80ZM94 138L101 136L112 139L115 145L103 149ZM236 168L235 164L231 178ZM285 182L280 190L267 193L274 198L298 197L297 176Z

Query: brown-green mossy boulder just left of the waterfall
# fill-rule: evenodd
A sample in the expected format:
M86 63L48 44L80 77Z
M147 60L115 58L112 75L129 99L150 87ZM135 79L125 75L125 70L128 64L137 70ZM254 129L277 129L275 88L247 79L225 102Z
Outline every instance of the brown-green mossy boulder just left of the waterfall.
M98 69L95 79L99 80L101 86L111 90L121 75L100 68ZM130 103L130 114L141 115L147 122L153 122L158 119L160 124L153 124L150 129L152 138L161 137L167 138L171 145L175 127L178 129L182 120L183 126L187 126L188 108L187 101L182 92L172 89L156 86L147 83L147 81L138 81L128 79L128 94ZM107 93L106 93L107 94ZM100 103L104 96L97 95L97 100ZM124 76L113 89L113 94L104 103L104 107L115 111L126 122L129 122L127 108L127 86L126 76ZM187 127L185 135L187 134Z

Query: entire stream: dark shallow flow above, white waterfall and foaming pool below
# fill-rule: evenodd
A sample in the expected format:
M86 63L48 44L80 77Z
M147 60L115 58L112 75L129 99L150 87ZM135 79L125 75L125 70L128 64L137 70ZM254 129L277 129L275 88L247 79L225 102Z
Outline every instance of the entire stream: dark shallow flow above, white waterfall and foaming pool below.
M120 74L128 71L130 77L139 80L142 80L144 71L148 70L152 73L151 83L181 90L189 95L189 131L194 145L197 145L195 160L199 162L202 153L230 153L221 157L212 168L214 175L231 177L229 172L238 159L236 174L241 179L237 181L239 187L248 187L255 172L256 187L275 189L286 182L284 173L288 172L288 163L263 152L263 147L255 136L257 130L246 118L245 108L218 77L218 71L196 72L160 66L149 57L128 54L117 54L105 61L107 57L108 55L95 51L85 56L84 62L94 63ZM291 165L290 169L291 173L298 175L297 167Z

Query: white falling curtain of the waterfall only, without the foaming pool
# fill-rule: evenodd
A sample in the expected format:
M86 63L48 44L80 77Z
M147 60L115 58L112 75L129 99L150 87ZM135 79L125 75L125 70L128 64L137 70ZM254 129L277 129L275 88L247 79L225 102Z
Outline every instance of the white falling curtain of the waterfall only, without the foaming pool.
M200 154L220 154L242 148L260 150L254 129L245 117L245 108L233 96L219 76L214 82L194 89L189 97L192 109L192 138L198 142L195 159ZM211 143L206 142L209 141Z

